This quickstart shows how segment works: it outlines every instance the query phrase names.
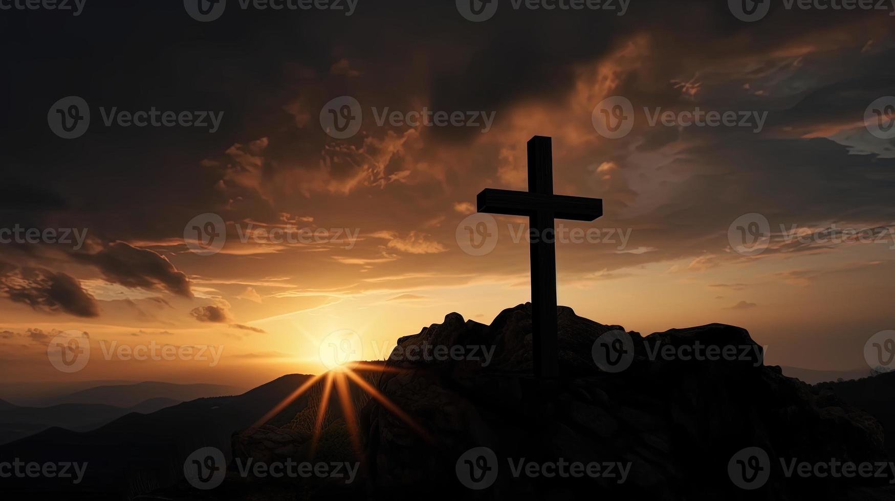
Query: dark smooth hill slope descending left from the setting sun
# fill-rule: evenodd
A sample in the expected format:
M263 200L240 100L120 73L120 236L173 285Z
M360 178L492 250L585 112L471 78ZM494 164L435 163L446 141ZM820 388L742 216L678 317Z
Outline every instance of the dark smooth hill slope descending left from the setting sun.
M39 463L86 462L90 464L90 474L78 486L80 496L118 499L125 493L134 497L145 492L147 485L169 485L181 479L184 458L197 448L215 446L229 455L235 431L251 427L307 378L311 376L284 376L243 395L200 398L150 414L130 412L84 433L46 429L0 446L0 458L28 457ZM302 396L268 423L283 426L306 405L307 397ZM71 487L71 483L56 479L0 482L0 491L22 496L39 492L64 493L67 497L72 494L68 490Z

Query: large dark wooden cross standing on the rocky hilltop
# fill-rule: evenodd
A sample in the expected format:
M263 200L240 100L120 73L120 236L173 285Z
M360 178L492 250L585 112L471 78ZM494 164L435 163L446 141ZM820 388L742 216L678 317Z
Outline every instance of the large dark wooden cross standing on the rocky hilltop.
M550 138L534 136L528 141L528 191L486 188L479 193L477 202L479 212L529 218L534 374L557 377L557 259L553 220L593 221L603 215L603 200L554 195Z

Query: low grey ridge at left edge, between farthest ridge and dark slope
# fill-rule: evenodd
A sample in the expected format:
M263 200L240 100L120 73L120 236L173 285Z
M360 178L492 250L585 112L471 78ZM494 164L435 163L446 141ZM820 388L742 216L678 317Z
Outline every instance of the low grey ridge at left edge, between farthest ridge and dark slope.
M89 431L131 412L147 414L178 403L180 401L171 398L153 398L124 409L102 403L62 403L50 407L22 407L0 401L0 444L54 427Z

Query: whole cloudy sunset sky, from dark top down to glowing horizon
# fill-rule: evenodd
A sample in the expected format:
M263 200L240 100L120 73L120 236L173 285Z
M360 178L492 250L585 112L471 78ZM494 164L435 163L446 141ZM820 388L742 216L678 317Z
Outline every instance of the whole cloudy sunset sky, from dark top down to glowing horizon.
M482 189L527 189L533 135L553 138L555 192L603 200L597 221L562 225L615 234L558 244L560 304L644 335L729 323L767 345L770 364L861 368L866 340L895 328L895 235L884 233L895 142L865 127L868 106L895 93L893 27L887 12L782 7L743 22L724 1L632 0L624 16L504 2L483 22L447 1L360 0L350 16L231 1L210 22L177 1L4 11L0 227L87 237L80 249L0 244L0 381L251 387L320 372L319 343L339 329L375 360L451 311L490 323L530 299L528 244L513 238L527 219L496 217L499 242L482 256L461 248L457 228ZM47 126L68 96L90 104L90 130L73 140ZM363 113L344 140L320 121L342 96ZM614 96L636 115L620 139L592 122ZM209 133L107 126L100 111L153 106L224 115ZM760 132L651 125L644 106L766 121ZM386 108L423 107L493 123L377 123ZM202 256L184 229L209 213L227 239ZM751 213L773 236L745 256L729 228ZM357 240L241 242L286 225ZM882 238L785 242L781 227ZM66 374L47 344L70 329L89 333L91 358ZM112 343L223 352L214 367L106 360Z

